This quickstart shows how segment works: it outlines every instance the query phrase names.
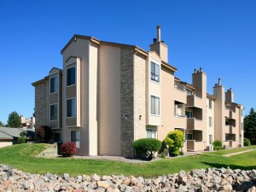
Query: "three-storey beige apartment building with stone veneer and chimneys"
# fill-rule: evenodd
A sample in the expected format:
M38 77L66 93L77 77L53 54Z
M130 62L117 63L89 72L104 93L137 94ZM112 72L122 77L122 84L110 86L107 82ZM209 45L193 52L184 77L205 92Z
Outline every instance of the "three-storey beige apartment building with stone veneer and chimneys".
M74 35L61 50L63 69L34 82L37 125L49 125L56 142L75 142L79 155L133 156L132 143L164 140L181 130L183 150L205 150L220 139L242 146L242 105L217 84L207 93L207 74L192 83L175 77L160 26L150 50Z

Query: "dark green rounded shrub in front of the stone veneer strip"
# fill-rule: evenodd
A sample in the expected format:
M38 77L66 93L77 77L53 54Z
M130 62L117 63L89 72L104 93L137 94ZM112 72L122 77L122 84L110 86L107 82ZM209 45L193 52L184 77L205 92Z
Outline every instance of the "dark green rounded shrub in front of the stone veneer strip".
M133 143L133 148L135 148L138 153L145 154L148 160L152 160L154 154L160 150L161 142L154 138L142 138Z

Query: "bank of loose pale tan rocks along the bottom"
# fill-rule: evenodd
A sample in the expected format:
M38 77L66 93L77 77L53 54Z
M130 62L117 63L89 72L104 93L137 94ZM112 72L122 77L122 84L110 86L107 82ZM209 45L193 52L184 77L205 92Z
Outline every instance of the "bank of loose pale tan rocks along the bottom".
M230 168L200 169L154 178L121 176L70 177L21 172L11 166L0 165L0 191L248 191L256 192L256 170Z

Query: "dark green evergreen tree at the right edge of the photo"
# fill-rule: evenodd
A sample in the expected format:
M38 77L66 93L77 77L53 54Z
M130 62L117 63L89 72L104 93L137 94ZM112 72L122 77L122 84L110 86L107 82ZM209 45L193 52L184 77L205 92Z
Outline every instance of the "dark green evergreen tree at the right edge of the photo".
M256 144L256 112L251 108L244 118L244 137L249 139L252 144Z

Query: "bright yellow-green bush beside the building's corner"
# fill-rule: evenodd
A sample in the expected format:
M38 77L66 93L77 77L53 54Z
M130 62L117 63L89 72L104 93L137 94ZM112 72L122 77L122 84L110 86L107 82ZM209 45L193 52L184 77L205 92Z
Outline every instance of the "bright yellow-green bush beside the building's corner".
M171 131L166 136L165 142L169 146L169 153L171 156L180 154L180 149L183 148L185 137L183 131Z

